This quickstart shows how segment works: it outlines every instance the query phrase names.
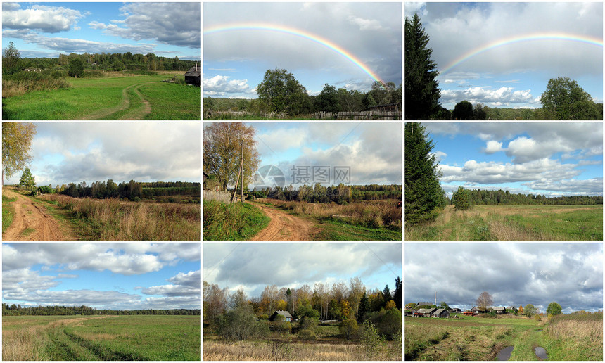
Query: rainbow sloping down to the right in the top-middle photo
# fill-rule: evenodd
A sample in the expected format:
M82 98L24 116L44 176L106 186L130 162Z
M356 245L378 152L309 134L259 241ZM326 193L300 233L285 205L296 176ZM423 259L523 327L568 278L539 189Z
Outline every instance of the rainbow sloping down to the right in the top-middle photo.
M208 27L204 29L204 35L207 34L215 34L218 32L233 32L238 30L261 30L267 32L279 32L283 34L294 35L295 37L300 37L303 39L310 40L311 42L315 42L320 44L321 46L325 46L331 51L335 51L350 60L353 64L357 65L357 67L361 68L367 75L372 77L375 81L383 82L375 72L372 72L367 65L365 65L362 60L353 56L350 52L341 48L340 46L330 42L328 39L324 39L319 37L317 34L313 34L311 32L306 32L305 30L295 29L293 27L286 27L284 25L276 25L276 24L267 24L267 23L231 23L231 24L223 24L223 25L215 25L212 27Z

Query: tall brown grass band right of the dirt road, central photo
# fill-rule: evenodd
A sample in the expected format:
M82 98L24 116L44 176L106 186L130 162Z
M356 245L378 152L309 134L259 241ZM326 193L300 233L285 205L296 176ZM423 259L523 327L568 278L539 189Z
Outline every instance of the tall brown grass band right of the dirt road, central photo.
M401 230L402 210L397 208L397 200L376 200L366 203L307 203L305 201L284 201L269 198L258 199L262 203L276 205L299 215L316 218L340 219L363 227Z

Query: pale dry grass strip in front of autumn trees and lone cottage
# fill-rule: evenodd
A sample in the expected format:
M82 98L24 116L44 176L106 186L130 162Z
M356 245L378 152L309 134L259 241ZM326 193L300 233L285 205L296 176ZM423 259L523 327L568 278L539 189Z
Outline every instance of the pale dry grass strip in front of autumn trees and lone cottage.
M354 361L362 360L364 352L357 344L325 344L325 343L282 343L273 342L223 342L208 341L203 343L204 360L331 360ZM386 358L386 357L385 357ZM376 359L373 360L382 360ZM384 359L386 360L386 359ZM397 360L401 360L399 355Z

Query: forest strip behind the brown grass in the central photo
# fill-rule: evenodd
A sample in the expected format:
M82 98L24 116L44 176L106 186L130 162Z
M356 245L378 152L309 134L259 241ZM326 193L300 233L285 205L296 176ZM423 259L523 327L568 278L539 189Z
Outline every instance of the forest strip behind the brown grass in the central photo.
M274 186L272 188L263 188L260 191L253 189L255 198L273 198L288 201L305 201L307 203L351 203L361 200L386 200L401 199L402 186L397 184L390 185L351 185L345 186L340 183L338 186L322 186L320 183L314 186L302 185L298 190L291 184L284 188Z

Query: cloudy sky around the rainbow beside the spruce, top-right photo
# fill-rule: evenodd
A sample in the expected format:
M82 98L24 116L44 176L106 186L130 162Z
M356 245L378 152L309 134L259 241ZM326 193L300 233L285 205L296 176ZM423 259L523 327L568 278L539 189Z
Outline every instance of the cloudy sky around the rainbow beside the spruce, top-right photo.
M473 49L508 37L556 32L603 41L603 3L410 3L430 37L437 64L440 103L467 100L498 108L540 108L549 79L570 77L594 101L603 102L603 47L539 40L499 46L447 70Z

